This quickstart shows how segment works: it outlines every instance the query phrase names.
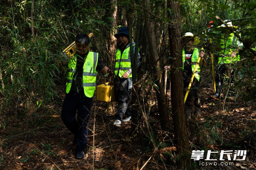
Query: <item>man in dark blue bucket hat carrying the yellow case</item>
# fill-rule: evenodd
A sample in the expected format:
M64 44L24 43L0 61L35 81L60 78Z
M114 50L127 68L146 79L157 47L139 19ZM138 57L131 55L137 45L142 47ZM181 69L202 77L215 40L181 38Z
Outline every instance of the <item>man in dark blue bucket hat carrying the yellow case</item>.
M120 127L121 122L131 120L131 108L129 106L130 94L132 91L132 68L130 57L130 44L128 28L121 27L115 37L120 42L116 50L114 88L117 96L117 112L114 126ZM133 56L135 55L135 43L132 42ZM138 52L138 63L140 65L140 54ZM124 116L126 118L124 119Z

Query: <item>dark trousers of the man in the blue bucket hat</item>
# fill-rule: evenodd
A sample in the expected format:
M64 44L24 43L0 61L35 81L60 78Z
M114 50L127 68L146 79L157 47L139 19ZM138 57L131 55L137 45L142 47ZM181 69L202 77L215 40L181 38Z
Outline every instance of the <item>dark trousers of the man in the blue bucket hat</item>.
M122 121L124 115L131 116L131 107L129 99L132 89L128 88L127 78L116 78L114 83L115 94L117 98L116 119Z

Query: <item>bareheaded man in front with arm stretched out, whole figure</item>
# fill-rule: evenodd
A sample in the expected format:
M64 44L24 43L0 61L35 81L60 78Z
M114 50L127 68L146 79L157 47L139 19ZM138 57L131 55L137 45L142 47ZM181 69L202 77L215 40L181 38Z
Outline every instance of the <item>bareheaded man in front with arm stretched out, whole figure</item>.
M84 158L87 145L87 123L92 107L92 97L96 87L97 72L114 73L101 60L99 54L88 50L90 39L80 34L76 36L76 53L69 57L66 96L63 101L61 120L75 137L76 159ZM76 120L77 110L77 120Z

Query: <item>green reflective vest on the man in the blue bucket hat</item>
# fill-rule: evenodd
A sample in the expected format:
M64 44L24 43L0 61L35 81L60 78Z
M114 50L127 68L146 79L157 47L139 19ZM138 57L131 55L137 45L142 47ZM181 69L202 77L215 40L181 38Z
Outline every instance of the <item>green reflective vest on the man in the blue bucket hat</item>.
M132 43L132 47L135 46L135 43ZM133 51L134 52L134 51ZM120 67L120 70L119 70ZM130 56L130 46L124 49L124 52L121 56L121 50L116 50L116 64L115 64L115 75L122 78L122 75L131 68L131 56ZM128 78L132 77L132 73L128 76Z

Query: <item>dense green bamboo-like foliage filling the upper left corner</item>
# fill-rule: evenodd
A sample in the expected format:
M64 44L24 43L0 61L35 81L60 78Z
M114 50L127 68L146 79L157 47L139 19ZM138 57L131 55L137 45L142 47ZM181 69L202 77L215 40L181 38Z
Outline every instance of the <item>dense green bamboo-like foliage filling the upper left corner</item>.
M104 3L104 6L108 7L109 3ZM34 39L31 2L10 1L1 5L0 94L4 96L0 102L1 112L15 113L21 108L19 114L24 117L28 107L59 102L59 94L64 91L61 86L66 80L67 61L67 56L61 51L74 41L78 33L93 32L104 37L101 30L110 31L113 17L107 16L106 11L112 9L88 5L87 2L73 2L73 7L62 1L36 1ZM99 45L92 45L92 50L99 49ZM16 107L10 109L8 106L12 103Z

